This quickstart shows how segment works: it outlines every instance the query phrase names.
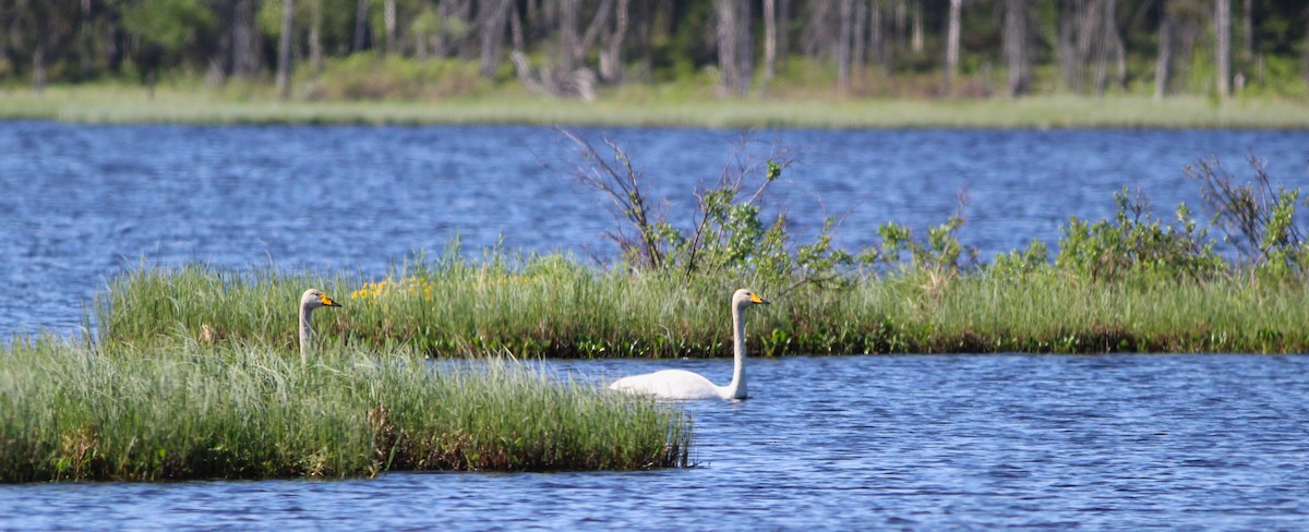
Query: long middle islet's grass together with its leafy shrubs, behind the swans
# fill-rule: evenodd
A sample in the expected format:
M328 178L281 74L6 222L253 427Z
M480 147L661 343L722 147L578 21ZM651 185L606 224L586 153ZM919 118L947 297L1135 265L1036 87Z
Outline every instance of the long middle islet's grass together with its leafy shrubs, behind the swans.
M925 237L886 222L878 246L840 250L829 221L798 243L783 217L766 221L755 203L785 158L734 157L719 186L699 196L692 226L677 227L643 207L657 201L641 196L640 173L618 146L609 145L614 166L569 139L583 159L575 175L606 192L622 221L613 235L623 260L613 267L500 248L474 260L458 242L381 280L143 265L97 297L98 340L291 348L285 301L322 286L350 294L347 308L315 324L338 345L403 344L448 357L725 357L720 302L746 286L775 303L747 332L749 349L763 356L1309 350L1300 193L1271 195L1266 176L1253 188L1208 178L1227 192L1207 195L1206 207L1225 227L1244 227L1245 260L1220 254L1186 205L1165 221L1144 195L1124 190L1111 220L1072 217L1059 242L980 263L957 235L963 196ZM1276 201L1257 201L1261 193Z

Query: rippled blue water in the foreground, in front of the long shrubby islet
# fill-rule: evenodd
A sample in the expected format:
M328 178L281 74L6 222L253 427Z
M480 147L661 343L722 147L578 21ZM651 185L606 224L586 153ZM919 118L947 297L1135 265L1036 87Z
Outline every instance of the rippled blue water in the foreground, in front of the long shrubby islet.
M590 378L730 361L547 362ZM750 359L694 469L0 486L12 528L1309 527L1309 358Z

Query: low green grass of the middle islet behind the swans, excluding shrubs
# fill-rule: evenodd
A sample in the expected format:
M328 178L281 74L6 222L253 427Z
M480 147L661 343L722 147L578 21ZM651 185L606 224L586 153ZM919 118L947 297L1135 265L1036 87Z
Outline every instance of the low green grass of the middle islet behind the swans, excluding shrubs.
M295 306L319 286L344 308L314 327L334 344L428 356L725 357L728 298L751 288L755 356L852 353L1309 352L1300 284L1090 282L1052 268L1018 277L905 271L784 293L740 278L597 269L559 255L416 259L385 280L147 267L97 303L106 345L264 341L295 356Z

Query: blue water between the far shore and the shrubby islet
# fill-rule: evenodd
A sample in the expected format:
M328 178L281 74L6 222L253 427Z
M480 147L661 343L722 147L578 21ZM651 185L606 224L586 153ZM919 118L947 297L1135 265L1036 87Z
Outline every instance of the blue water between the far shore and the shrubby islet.
M848 213L836 243L860 248L888 221L925 227L971 197L961 230L983 259L1054 243L1068 216L1098 220L1140 187L1157 214L1199 204L1182 165L1254 152L1305 186L1309 131L583 131L617 140L669 218L713 183L742 137L798 162L774 187L792 229ZM0 339L76 331L106 280L147 259L232 268L360 272L373 278L457 235L509 250L611 258L606 200L558 171L572 150L534 127L195 127L0 123ZM1198 210L1198 207L1196 207Z

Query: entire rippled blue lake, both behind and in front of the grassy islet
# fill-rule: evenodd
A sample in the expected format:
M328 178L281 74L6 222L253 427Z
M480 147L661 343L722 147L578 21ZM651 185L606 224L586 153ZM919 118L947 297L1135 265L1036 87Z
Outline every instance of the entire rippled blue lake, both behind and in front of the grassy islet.
M770 212L838 244L924 227L971 199L983 259L1054 243L1140 187L1200 210L1181 167L1244 157L1304 187L1309 132L583 131L620 142L674 224L745 159L798 156ZM0 123L0 340L76 332L141 260L372 278L415 250L500 243L615 255L572 149L528 127ZM661 367L725 382L730 361L550 361L597 383ZM0 486L0 528L991 529L1309 528L1309 358L905 356L751 359L751 399L682 405L699 467L637 473L387 474L351 481Z

